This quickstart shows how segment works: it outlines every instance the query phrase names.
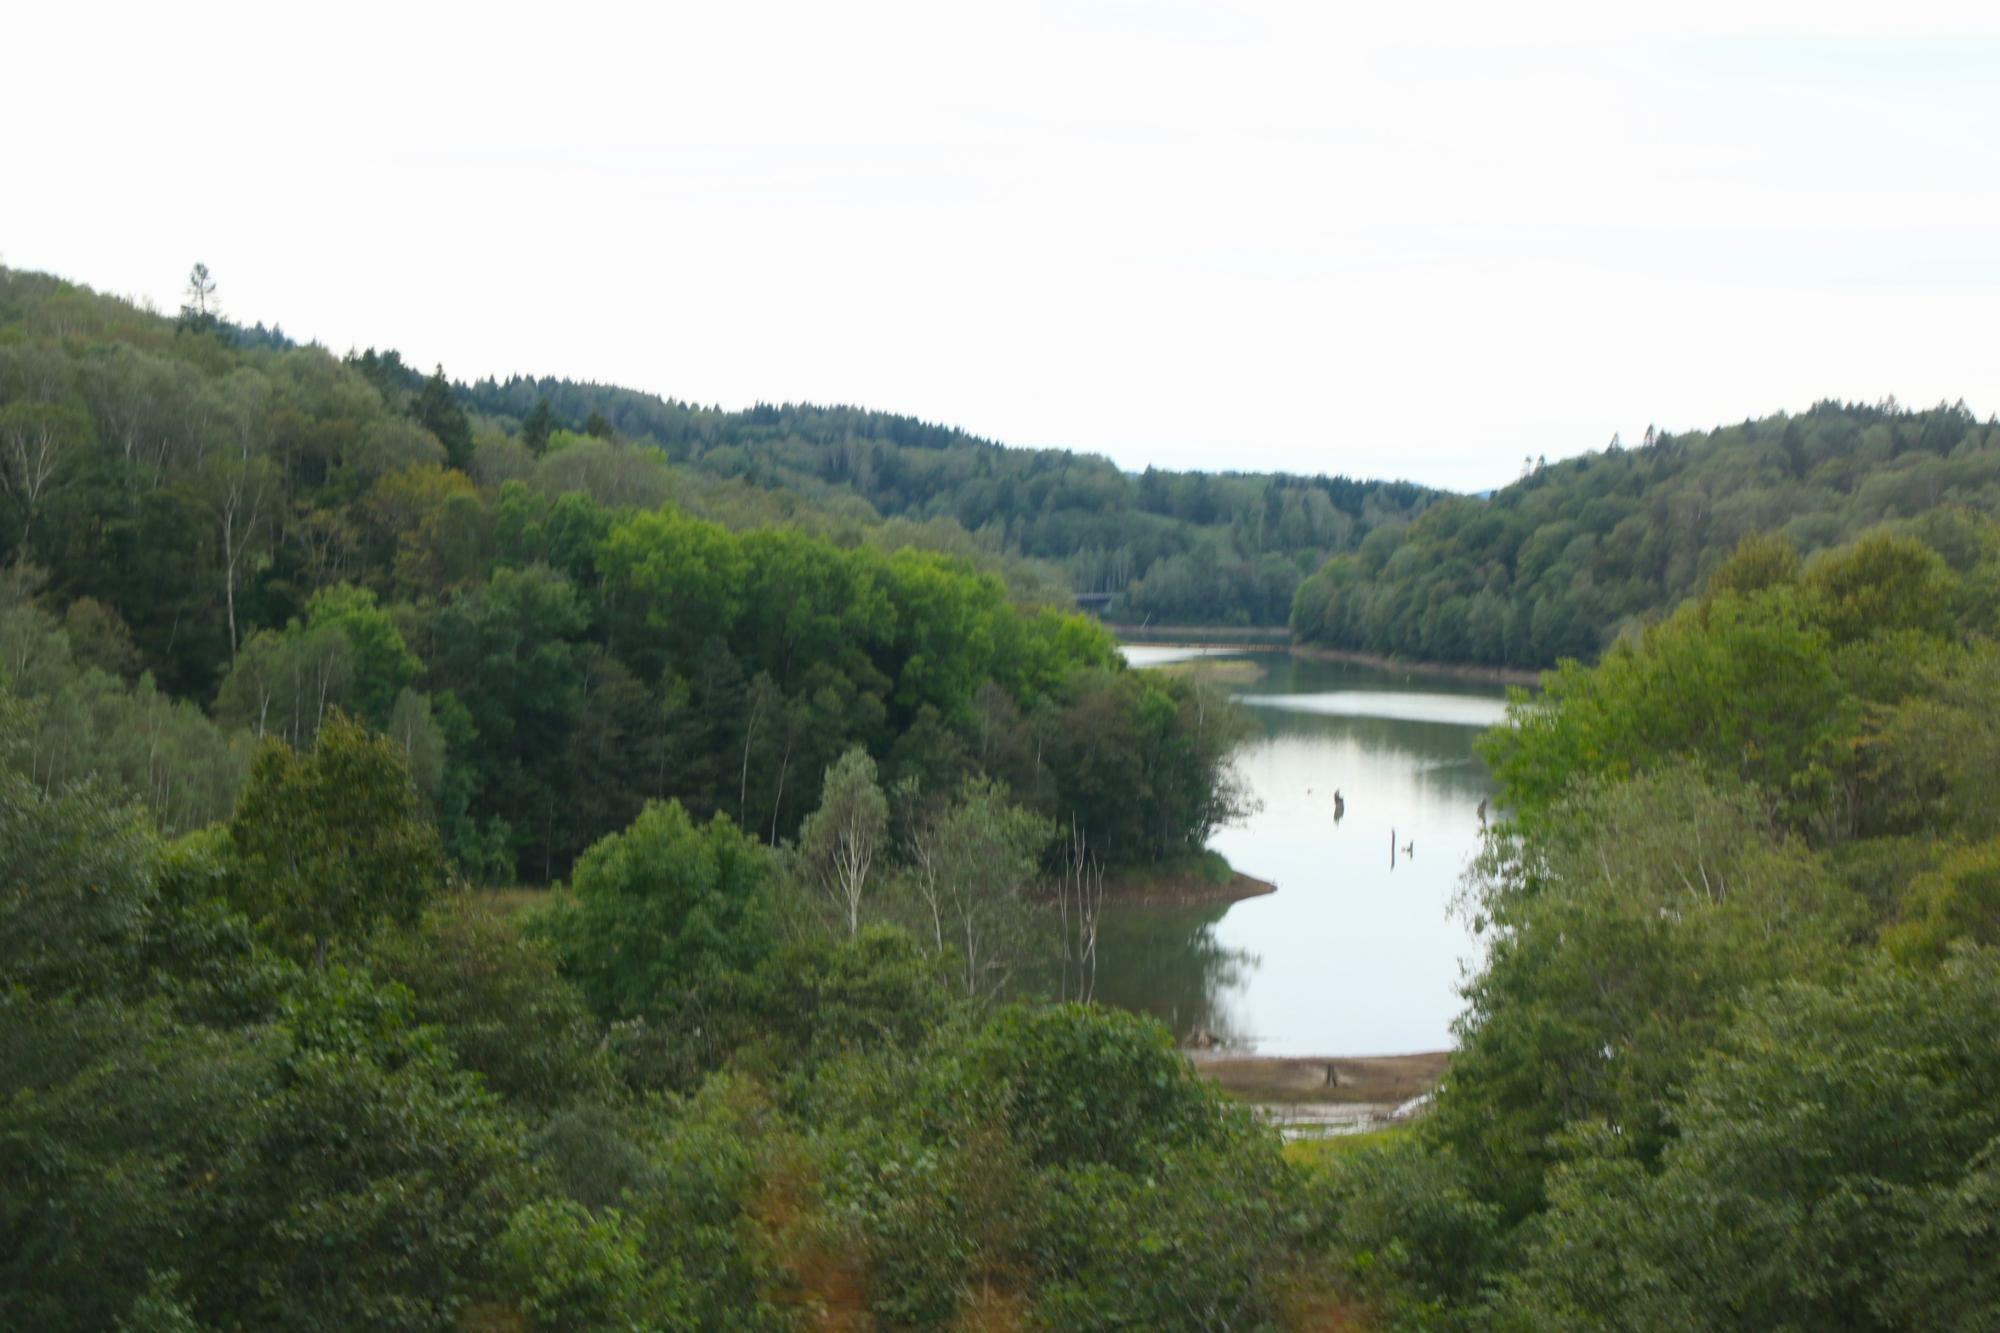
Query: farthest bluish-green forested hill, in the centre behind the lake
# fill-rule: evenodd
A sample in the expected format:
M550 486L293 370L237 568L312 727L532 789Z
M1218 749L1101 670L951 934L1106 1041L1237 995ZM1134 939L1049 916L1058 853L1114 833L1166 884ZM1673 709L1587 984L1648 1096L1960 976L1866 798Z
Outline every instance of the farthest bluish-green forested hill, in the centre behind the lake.
M1284 624L1304 574L1440 494L1346 476L1130 474L1094 454L1006 448L848 406L724 412L518 376L462 392L510 428L546 402L562 426L596 422L704 474L816 498L852 494L886 516L952 518L996 550L1060 564L1078 592L1114 594L1120 620Z

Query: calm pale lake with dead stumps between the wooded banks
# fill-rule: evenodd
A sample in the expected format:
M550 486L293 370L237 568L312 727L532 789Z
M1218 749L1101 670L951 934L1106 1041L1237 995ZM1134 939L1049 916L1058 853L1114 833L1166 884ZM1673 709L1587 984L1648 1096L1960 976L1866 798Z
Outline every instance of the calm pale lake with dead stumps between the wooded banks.
M1134 666L1202 654L1258 669L1224 689L1256 725L1236 771L1262 809L1210 847L1278 893L1110 909L1098 999L1260 1055L1450 1047L1456 987L1478 959L1450 903L1492 797L1472 743L1504 717L1504 691L1288 652L1124 652Z

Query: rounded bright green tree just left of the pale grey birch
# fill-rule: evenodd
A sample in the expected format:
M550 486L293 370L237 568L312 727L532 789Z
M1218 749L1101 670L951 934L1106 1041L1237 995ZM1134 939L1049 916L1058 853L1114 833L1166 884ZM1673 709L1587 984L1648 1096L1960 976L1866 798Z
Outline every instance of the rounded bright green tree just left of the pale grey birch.
M728 817L650 805L576 863L572 899L536 921L590 1007L668 1017L770 949L768 853Z

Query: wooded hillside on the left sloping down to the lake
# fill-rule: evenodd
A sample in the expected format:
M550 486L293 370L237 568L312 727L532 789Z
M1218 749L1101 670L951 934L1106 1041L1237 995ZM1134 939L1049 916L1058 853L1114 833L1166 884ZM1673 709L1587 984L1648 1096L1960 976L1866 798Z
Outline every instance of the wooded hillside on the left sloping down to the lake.
M692 422L682 456L704 422L764 438L644 402ZM32 705L34 779L188 833L228 817L254 741L306 749L342 711L402 747L488 881L562 877L648 801L782 841L850 747L890 785L1000 781L1110 863L1198 851L1228 809L1214 711L1122 671L1046 574L836 486L676 466L590 412L572 434L570 408L500 420L394 354L0 268L0 693ZM772 468L818 448L766 434Z

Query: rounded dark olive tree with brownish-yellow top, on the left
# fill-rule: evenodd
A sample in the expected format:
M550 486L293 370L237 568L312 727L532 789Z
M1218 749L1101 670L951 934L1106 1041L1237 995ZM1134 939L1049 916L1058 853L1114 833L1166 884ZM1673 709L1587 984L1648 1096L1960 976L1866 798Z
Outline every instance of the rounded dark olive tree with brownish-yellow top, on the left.
M402 751L334 715L306 755L266 741L230 819L232 895L284 949L318 963L378 923L416 923L444 851Z

